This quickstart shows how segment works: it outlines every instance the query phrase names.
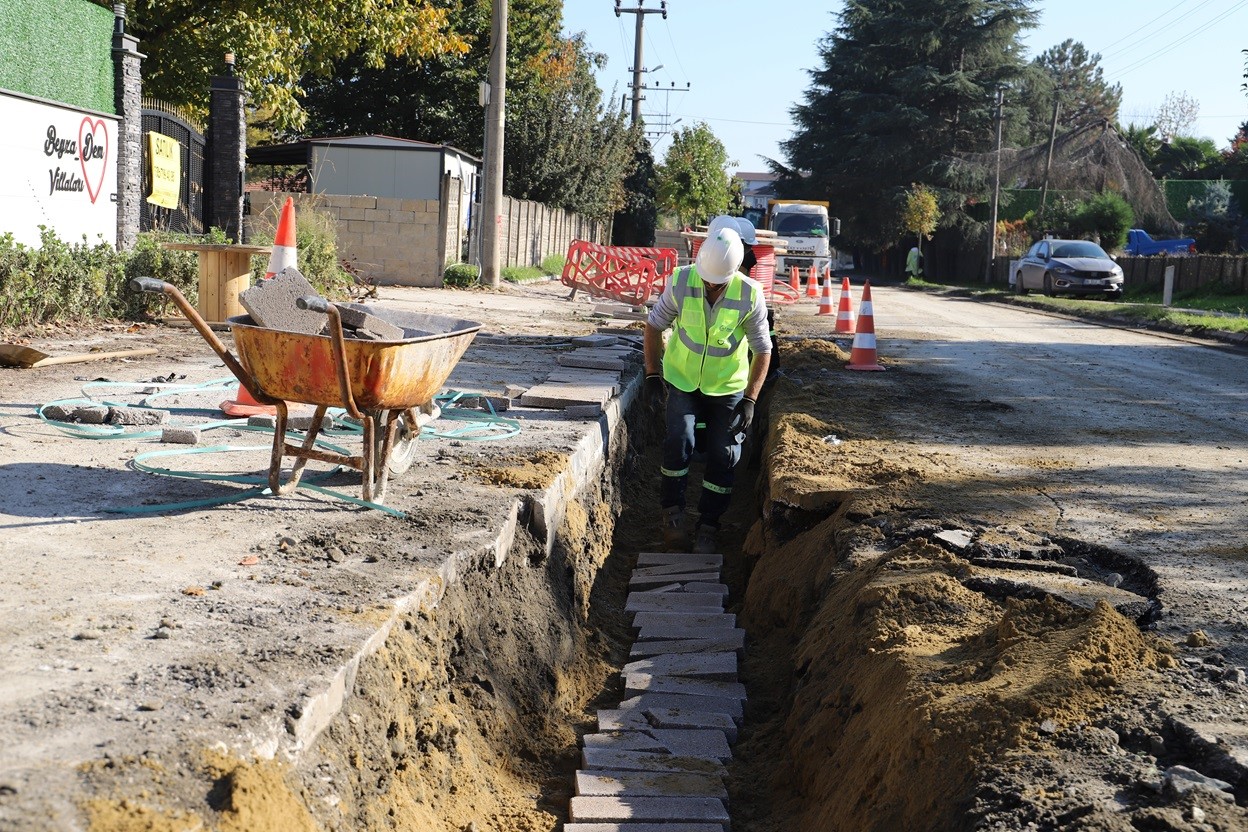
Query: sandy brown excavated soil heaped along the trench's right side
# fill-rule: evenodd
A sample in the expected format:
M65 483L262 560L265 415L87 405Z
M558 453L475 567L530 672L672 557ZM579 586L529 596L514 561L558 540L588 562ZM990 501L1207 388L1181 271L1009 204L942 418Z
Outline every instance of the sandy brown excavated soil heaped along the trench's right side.
M797 343L785 365L800 372L771 395L734 828L1244 828L1237 783L1163 773L1207 761L1184 758L1157 706L1179 662L1141 627L1156 576L956 514L977 504L956 460L902 457L889 435L937 405L907 407L900 373L886 394L837 384L844 359Z

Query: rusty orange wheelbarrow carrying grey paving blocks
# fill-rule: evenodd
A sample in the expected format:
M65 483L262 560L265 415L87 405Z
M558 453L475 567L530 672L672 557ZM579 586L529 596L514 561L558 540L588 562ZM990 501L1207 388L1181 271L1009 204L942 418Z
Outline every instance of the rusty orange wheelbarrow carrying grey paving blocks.
M372 314L403 327L409 337L402 341L347 339L337 307L311 296L298 298L296 304L327 314L328 336L267 329L251 316L235 316L227 321L238 349L238 358L235 358L175 286L152 277L137 277L130 281L130 288L168 296L238 383L257 402L276 408L277 425L268 465L268 486L273 494L292 491L303 475L303 467L316 459L361 472L363 499L382 503L389 476L412 465L421 427L437 418L434 397L480 329L473 321L368 307ZM298 445L286 442L287 402L316 407L307 435ZM344 409L363 425L359 455L314 447L331 407ZM282 460L286 457L296 462L283 483Z

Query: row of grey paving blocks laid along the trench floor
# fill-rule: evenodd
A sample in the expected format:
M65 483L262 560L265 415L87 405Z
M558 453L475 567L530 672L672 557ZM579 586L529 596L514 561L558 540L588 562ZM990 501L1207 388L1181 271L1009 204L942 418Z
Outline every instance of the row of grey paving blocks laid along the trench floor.
M643 553L629 580L618 707L585 735L567 832L728 832L724 787L745 701L745 631L724 612L721 555Z

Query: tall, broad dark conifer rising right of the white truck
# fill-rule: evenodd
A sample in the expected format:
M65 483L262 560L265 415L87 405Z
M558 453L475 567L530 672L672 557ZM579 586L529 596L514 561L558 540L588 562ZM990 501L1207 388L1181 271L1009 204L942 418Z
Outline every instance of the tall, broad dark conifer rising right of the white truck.
M940 185L955 152L991 146L995 90L1022 72L1030 5L847 4L792 110L787 165L773 165L780 192L831 200L851 242L895 242L894 198L911 182Z

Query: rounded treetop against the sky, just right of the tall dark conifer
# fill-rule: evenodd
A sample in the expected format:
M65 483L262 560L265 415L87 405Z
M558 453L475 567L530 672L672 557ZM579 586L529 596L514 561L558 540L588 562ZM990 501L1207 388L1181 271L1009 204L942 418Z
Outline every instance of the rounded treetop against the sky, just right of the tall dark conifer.
M1107 84L1099 62L1099 55L1090 55L1083 44L1072 39L1032 60L1018 90L1021 100L1028 105L1025 143L1048 140L1055 101L1061 104L1058 132L1117 121L1122 85Z

